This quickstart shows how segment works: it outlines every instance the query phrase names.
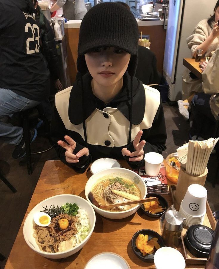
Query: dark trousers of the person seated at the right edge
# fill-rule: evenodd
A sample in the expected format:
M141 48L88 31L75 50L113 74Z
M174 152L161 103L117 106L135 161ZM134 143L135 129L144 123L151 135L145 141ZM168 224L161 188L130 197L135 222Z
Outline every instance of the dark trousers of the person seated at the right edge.
M192 98L192 127L190 135L199 135L204 139L213 136L215 129L215 117L212 115L209 100L211 95L197 93Z

